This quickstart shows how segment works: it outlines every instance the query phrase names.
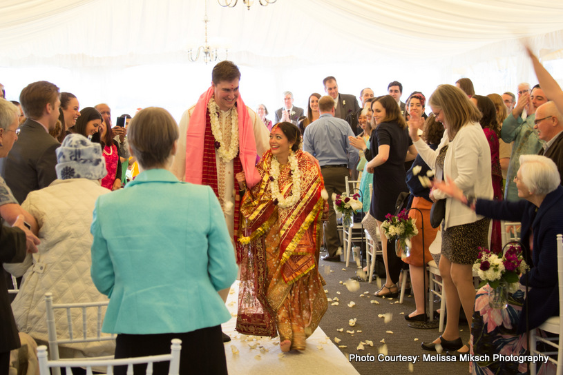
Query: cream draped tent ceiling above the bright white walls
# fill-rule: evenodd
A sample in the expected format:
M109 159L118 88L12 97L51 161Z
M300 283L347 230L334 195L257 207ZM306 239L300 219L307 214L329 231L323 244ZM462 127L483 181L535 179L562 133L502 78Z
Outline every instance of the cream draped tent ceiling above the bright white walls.
M207 1L210 44L243 65L436 59L563 29L561 0L278 0L250 10ZM0 65L187 62L204 41L204 4L3 0Z

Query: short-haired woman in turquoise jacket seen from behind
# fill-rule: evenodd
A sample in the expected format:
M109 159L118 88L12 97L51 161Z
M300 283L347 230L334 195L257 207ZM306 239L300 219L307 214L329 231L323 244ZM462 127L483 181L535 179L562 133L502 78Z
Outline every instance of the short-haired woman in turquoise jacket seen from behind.
M102 330L117 334L115 358L169 353L180 338L180 374L227 374L220 325L231 314L217 292L238 267L219 201L168 170L178 145L169 112L141 110L127 138L142 172L99 197L90 229L92 279L110 298Z

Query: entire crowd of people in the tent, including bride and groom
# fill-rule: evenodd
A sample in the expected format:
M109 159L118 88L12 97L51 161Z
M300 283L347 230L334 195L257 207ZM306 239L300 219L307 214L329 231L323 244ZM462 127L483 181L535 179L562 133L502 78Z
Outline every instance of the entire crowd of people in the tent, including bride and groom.
M0 368L19 346L18 330L46 343L42 296L52 292L55 303L109 299L103 331L117 334L115 343L68 345L64 356L164 354L181 338L181 373L226 374L222 343L230 337L220 324L230 318L225 301L237 276L238 332L279 335L283 352L304 350L327 310L319 261L341 261L332 196L346 190L345 176L360 180L372 238L378 228L382 234L386 278L376 296L397 296L408 264L416 308L405 320L426 321L425 268L439 263L446 330L423 349L498 349L495 332L475 335L485 313L475 304L472 265L479 247L502 251L499 220L522 222L531 265L522 278L531 293L514 294L522 305L529 300L529 318L511 316L511 333L535 329L558 307L563 92L528 54L540 84L519 86L517 100L510 92L475 94L470 79L460 79L439 85L428 102L413 92L403 103L402 85L392 81L379 97L362 90L360 107L326 77L327 95L311 94L307 110L284 92L274 122L265 105L254 112L242 101L231 61L213 68L211 87L179 125L166 110L145 108L113 127L108 105L80 108L75 95L46 81L24 88L19 103L0 99L0 259L23 276L11 308L0 282ZM130 161L139 173L127 182ZM400 196L424 223L402 258L382 227ZM439 201L443 218L432 227ZM437 236L441 254L433 257ZM460 311L477 322L470 343L459 338Z

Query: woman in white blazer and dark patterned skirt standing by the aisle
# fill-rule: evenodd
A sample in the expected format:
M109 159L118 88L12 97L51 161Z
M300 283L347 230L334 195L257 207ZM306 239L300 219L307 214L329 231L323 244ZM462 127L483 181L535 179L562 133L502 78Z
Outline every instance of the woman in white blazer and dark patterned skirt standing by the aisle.
M430 108L436 121L446 130L436 151L422 141L414 127L409 134L422 159L436 172L437 181L452 180L467 196L492 199L490 150L479 119L481 113L467 95L452 85L440 85L430 97ZM459 338L459 306L471 321L475 287L471 270L479 250L488 247L489 219L475 214L469 207L439 190L430 192L432 199L446 199L442 222L440 274L446 293L448 321L442 336L423 349L436 350L440 344L450 354L469 352Z

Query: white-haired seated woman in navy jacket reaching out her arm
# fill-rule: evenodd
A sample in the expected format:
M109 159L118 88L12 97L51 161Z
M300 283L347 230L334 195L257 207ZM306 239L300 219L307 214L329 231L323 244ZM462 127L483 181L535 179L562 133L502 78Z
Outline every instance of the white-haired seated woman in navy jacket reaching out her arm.
M477 214L522 223L520 241L524 245L524 259L531 270L520 278L521 286L509 298L508 310L500 316L498 310L488 307L488 285L477 292L473 350L476 355L490 354L490 358L493 354L526 354L526 330L533 330L547 318L559 314L555 238L563 233L560 175L555 163L545 156L522 155L519 162L520 168L514 180L521 201L475 199L475 196L461 191L453 181L436 186ZM527 297L524 296L524 285L530 288ZM481 367L478 373L526 373L526 363L475 362L474 365Z

